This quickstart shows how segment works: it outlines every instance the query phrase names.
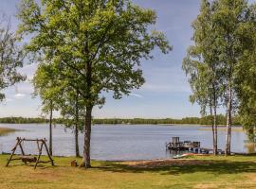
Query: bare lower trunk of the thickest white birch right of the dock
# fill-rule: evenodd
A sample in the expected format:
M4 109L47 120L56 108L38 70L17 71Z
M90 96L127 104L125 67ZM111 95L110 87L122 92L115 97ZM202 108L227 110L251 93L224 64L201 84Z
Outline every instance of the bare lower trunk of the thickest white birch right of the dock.
M228 110L227 110L227 136L226 136L226 148L225 155L230 155L230 140L231 140L231 123L232 123L232 86L229 83L229 100L228 100Z

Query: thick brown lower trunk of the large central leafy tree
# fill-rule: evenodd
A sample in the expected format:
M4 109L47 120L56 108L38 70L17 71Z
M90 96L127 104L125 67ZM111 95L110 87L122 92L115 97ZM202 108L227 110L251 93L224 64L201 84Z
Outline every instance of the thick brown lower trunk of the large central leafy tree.
M90 146L91 146L91 124L92 124L92 106L86 106L85 125L84 125L84 145L82 155L82 167L91 167Z

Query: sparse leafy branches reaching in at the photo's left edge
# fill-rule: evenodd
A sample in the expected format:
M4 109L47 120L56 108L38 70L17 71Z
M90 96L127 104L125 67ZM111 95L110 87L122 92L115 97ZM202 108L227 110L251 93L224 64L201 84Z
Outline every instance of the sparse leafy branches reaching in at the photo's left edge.
M0 18L0 101L5 98L2 90L26 77L17 72L23 66L23 52L17 44L17 38L10 30L5 15Z

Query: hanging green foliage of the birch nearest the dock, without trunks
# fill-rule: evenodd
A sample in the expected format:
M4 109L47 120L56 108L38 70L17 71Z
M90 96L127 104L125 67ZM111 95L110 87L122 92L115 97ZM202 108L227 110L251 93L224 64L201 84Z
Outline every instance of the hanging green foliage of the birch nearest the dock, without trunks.
M197 102L201 113L206 114L208 107L217 107L224 93L223 67L219 61L218 37L213 31L212 14L214 10L207 0L202 0L200 14L192 23L194 44L189 47L182 68L189 77L192 88L190 100Z

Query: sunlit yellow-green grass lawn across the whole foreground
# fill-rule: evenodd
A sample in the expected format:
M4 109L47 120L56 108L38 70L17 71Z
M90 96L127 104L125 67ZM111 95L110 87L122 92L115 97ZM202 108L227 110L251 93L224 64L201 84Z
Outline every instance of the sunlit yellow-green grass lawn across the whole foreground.
M54 157L55 166L32 166L0 155L1 189L256 188L256 156L193 157L155 162L96 162L71 167L75 158ZM46 158L46 157L44 157ZM77 159L81 162L81 159Z

